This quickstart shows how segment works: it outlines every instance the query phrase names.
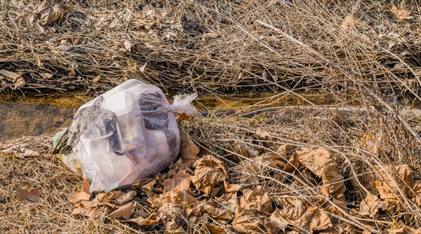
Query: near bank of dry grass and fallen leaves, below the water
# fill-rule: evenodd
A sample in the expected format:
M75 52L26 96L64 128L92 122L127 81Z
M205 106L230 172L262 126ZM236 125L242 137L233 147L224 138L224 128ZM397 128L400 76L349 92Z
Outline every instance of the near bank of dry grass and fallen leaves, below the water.
M180 158L166 172L92 195L49 154L51 138L13 139L0 143L0 215L10 220L0 228L420 233L420 145L373 115L184 119Z

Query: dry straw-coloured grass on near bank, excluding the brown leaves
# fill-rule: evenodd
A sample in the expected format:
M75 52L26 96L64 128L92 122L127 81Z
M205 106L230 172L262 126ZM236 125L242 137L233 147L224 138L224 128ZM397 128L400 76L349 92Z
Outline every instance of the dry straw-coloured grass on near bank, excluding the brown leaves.
M307 116L312 116L312 118ZM420 116L416 118L418 121L421 120ZM378 217L364 217L358 214L361 201L366 196L366 189L361 186L364 175L372 174L373 178L382 177L375 166L410 164L415 168L414 179L420 179L417 167L421 165L418 158L421 146L410 139L408 132L396 126L399 126L399 123L385 118L375 110L340 113L335 108L305 107L272 109L267 114L260 114L253 118L209 116L209 118L185 121L182 123L182 130L190 132L196 144L210 149L215 157L222 160L228 170L229 180L234 184L243 184L241 191L253 189L260 184L265 186L270 198L274 200L286 197L300 198L316 207L320 206L321 200L331 201L321 195L320 189L323 184L312 184L309 181L306 182L306 179L300 182L301 184L298 183L305 178L300 176L301 169L290 173L279 167L265 165L262 171L256 173L250 170L240 172L234 170L233 167L246 161L258 165L259 163L253 158L255 155L247 152L256 152L256 155L262 156L267 152L274 152L276 149L274 145L288 144L293 147L293 151L298 151L304 146L328 149L340 165L340 174L345 178L347 188L345 197L348 204L345 209L340 210L342 215L339 216L326 209L330 219L336 226L342 228L339 229L342 231L358 233L367 229L376 233L377 230L400 226L419 228L420 207L406 195L396 195L398 202L394 203L396 213L393 216L385 212L380 212ZM382 139L378 142L379 153L370 152L361 144L361 136L364 134L382 135ZM263 135L265 137L262 137ZM1 153L1 165L4 167L1 173L3 184L0 188L2 207L0 214L6 217L1 225L2 232L30 230L33 233L43 233L45 230L51 230L77 233L140 231L161 233L166 230L160 225L142 228L136 224L120 223L116 219L109 219L107 210L90 218L71 216L74 207L68 197L72 191L81 187L82 181L56 156L50 154L51 138L23 137L0 144L0 149L17 145L38 151L41 155L19 158L16 153ZM285 160L288 160L291 153L292 151L288 153ZM166 172L156 177L156 180L162 181L162 178L171 178L174 174L175 171ZM392 177L396 182L396 188L408 186L396 174L392 174ZM253 179L250 181L247 178ZM39 202L21 201L16 198L15 186L19 186L22 181L29 181L41 188ZM135 197L135 209L132 214L134 217L147 217L154 212L147 196L142 191L143 189L139 189ZM200 199L213 200L206 196ZM198 221L194 221L191 216L179 215L189 223L190 233L201 230ZM218 219L213 219L213 225L235 232L232 226L221 223Z

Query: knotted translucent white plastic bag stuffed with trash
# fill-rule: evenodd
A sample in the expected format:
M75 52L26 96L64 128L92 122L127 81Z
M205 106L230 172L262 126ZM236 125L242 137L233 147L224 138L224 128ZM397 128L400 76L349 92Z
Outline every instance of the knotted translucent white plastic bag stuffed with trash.
M126 81L79 108L65 142L72 150L61 154L62 161L84 174L91 192L111 191L153 177L180 151L173 113L194 113L190 103L196 96L176 96L170 105L156 86Z

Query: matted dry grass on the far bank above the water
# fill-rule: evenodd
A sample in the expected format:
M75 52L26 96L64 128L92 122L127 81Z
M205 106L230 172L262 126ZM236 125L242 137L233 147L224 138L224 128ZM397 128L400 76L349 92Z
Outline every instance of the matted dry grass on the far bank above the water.
M324 88L346 102L366 85L420 99L417 1L72 1L45 33L12 2L1 6L0 68L25 74L25 89L102 92L138 78L177 92ZM344 30L347 15L355 25Z

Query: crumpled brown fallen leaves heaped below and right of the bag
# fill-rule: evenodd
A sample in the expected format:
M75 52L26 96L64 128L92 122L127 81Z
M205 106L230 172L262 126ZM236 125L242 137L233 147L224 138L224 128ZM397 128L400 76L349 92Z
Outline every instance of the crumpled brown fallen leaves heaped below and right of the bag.
M421 180L410 165L377 168L381 177L364 174L357 181L361 187L355 188L364 198L350 205L345 179L326 149L272 144L272 151L227 167L187 135L183 139L181 158L168 172L122 191L92 197L75 191L69 197L72 215L105 214L133 228L166 233L379 233L373 223L400 215L397 198L407 198L410 207L420 205ZM259 184L267 170L287 174L276 181L283 184L282 191ZM421 232L398 224L381 230Z

